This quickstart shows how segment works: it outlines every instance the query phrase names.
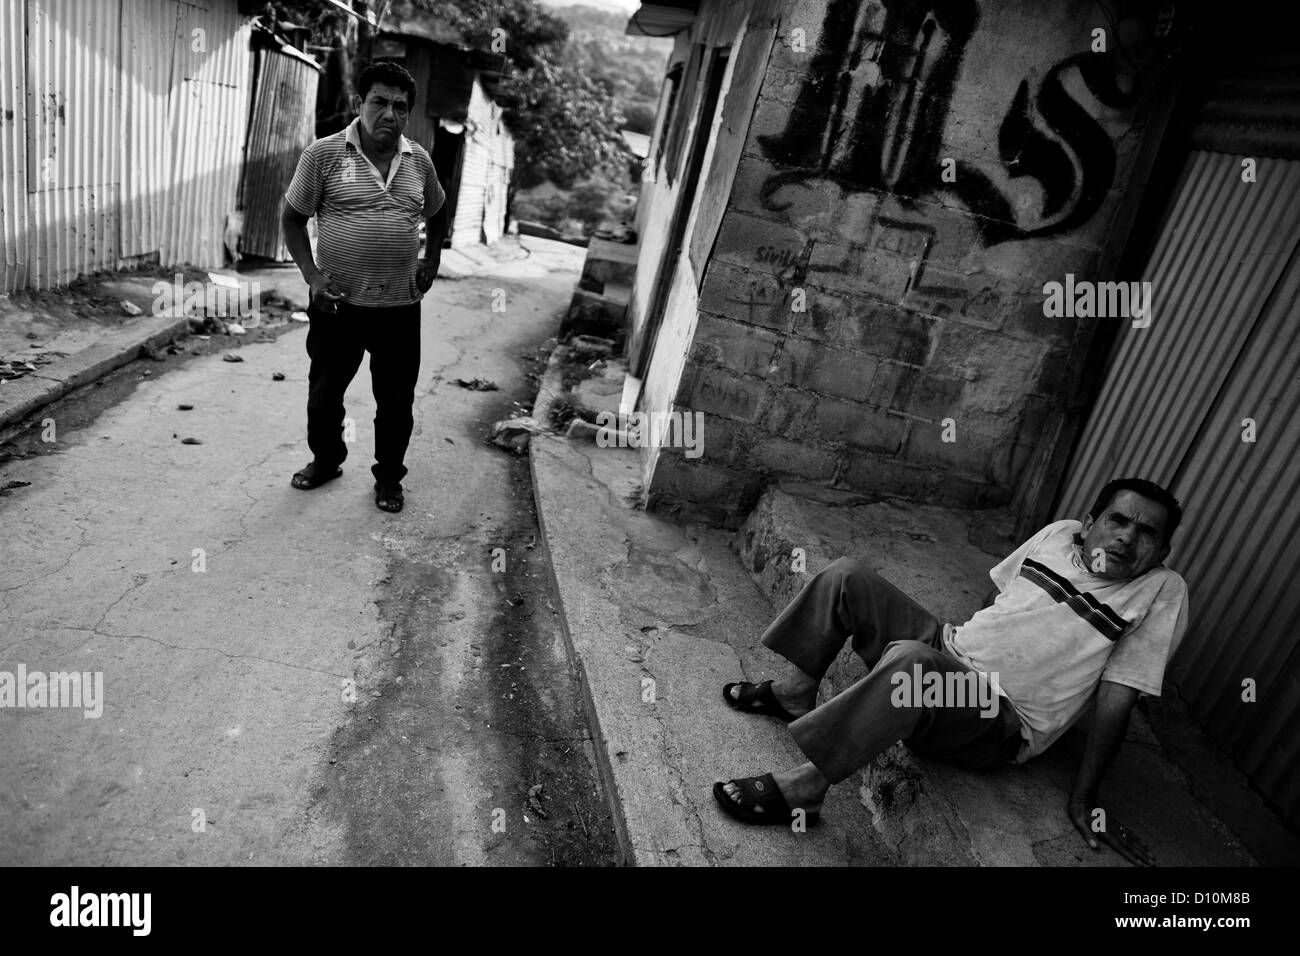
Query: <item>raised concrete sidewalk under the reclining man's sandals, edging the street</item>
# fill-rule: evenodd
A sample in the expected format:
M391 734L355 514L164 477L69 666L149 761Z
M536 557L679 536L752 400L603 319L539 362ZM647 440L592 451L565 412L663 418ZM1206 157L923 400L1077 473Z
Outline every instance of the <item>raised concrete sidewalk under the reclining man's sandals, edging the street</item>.
M549 421L563 352L538 384ZM780 722L725 706L737 675L771 670L758 643L774 609L718 528L647 515L628 498L637 453L530 440L541 546L623 862L629 866L845 866L885 858L855 788L824 826L750 827L715 803L719 779L802 762ZM646 687L651 696L645 697ZM792 832L793 831L793 832Z

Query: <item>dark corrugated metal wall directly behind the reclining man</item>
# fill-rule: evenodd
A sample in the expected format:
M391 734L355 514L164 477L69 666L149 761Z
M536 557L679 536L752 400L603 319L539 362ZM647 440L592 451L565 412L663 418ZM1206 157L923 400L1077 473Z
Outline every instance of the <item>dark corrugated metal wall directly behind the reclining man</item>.
M1057 512L1082 514L1122 475L1179 496L1166 563L1187 579L1192 614L1167 676L1295 825L1300 161L1256 157L1256 182L1243 182L1243 159L1190 155L1144 276L1152 325L1119 332Z

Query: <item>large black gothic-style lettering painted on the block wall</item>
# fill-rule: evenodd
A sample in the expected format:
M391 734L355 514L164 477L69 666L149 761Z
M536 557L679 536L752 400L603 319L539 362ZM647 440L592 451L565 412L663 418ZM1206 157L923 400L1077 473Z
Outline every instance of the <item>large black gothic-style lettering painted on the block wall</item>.
M949 104L979 23L975 0L832 0L785 129L760 135L768 159L794 166L770 177L766 208L783 209L783 187L814 177L849 189L916 198L948 191L972 213L987 246L1070 232L1101 207L1115 174L1115 150L1096 118L1075 100L1076 74L1106 107L1124 108L1138 88L1117 83L1108 52L1079 52L1052 65L1041 82L1022 79L997 126L997 155L1009 179L1041 186L1041 208L1024 209L984 170L956 161L939 176ZM992 130L991 130L992 133Z

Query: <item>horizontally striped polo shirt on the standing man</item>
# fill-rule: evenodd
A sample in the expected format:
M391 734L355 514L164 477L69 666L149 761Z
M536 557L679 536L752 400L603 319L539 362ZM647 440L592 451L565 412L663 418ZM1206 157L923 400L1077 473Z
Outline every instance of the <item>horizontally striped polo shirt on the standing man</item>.
M287 202L316 216L316 268L355 306L390 308L419 302L420 220L446 196L433 160L398 137L385 181L361 151L360 118L303 150Z

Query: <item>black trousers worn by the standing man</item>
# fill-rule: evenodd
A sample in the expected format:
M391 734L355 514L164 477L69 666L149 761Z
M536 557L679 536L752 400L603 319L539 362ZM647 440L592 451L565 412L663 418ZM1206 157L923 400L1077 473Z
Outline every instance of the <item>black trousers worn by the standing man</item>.
M326 467L347 458L343 441L343 393L361 355L370 354L374 392L374 466L377 481L406 477L407 445L415 427L412 406L420 377L420 303L367 308L339 303L337 313L307 310L307 445Z

